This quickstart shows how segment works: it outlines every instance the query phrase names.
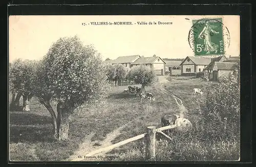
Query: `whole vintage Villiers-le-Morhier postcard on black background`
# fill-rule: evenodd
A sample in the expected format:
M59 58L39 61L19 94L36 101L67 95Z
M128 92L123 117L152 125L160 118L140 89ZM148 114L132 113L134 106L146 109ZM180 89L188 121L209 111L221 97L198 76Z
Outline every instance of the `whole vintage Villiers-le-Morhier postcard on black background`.
M240 16L9 16L10 161L239 161Z

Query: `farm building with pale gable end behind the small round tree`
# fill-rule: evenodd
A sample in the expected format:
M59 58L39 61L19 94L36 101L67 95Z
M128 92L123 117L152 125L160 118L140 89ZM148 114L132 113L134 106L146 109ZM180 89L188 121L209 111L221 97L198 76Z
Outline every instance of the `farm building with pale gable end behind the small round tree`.
M132 63L131 67L138 66L141 64L150 66L151 68L155 69L156 75L165 75L166 62L160 57L140 57Z

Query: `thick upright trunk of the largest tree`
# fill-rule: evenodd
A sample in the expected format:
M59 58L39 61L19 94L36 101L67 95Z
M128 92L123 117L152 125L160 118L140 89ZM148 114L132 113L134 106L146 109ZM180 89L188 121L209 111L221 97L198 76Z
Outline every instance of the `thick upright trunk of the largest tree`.
M67 140L69 136L69 110L61 103L57 104L57 130L58 139Z

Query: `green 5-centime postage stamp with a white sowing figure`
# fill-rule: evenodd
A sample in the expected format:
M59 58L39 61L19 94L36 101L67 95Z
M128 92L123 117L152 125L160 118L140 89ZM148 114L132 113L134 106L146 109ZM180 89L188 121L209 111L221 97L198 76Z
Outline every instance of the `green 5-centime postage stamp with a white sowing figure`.
M195 56L223 55L222 18L193 20Z

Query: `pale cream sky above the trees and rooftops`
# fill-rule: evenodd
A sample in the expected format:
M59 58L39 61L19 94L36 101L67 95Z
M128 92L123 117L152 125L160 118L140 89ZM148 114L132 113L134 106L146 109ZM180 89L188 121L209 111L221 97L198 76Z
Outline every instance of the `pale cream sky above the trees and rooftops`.
M234 15L10 16L9 61L17 58L39 60L60 37L74 35L84 44L93 44L103 60L154 54L161 58L185 58L194 56L188 43L191 20L220 17L230 34L225 54L239 56L240 17ZM125 21L133 25L90 25L104 21ZM147 25L138 25L138 21L147 22ZM148 25L150 21L157 25ZM168 24L158 25L158 21Z

